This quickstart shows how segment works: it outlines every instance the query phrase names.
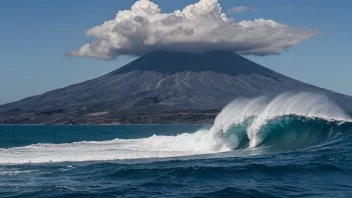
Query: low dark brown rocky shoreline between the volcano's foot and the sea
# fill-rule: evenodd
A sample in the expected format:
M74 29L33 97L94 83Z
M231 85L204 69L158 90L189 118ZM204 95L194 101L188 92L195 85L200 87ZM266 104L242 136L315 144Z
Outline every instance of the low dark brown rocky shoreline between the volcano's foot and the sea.
M157 113L116 114L96 112L86 115L65 113L61 110L52 112L27 112L20 115L2 115L0 124L33 125L80 125L80 124L212 124L218 110L182 110Z

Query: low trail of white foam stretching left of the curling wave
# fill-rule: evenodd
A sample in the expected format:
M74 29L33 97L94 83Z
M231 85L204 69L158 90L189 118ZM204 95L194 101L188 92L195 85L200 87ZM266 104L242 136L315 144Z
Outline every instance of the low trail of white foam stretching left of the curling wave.
M0 149L0 164L79 162L200 155L219 151L216 139L207 131L177 136L152 136L142 139L115 139L69 144L35 144Z

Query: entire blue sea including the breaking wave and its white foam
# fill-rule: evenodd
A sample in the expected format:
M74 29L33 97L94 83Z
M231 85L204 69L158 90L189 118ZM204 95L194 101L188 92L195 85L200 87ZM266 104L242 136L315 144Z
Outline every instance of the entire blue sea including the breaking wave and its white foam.
M213 125L0 126L0 197L351 196L351 119L307 93Z

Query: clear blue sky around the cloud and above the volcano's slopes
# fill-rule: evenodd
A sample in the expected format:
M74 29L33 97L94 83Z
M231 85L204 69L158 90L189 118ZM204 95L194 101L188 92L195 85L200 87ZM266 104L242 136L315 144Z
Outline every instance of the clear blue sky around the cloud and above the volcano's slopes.
M196 0L155 0L163 12ZM352 95L352 1L219 0L225 12L234 6L255 8L229 14L236 21L273 19L324 32L281 55L248 58L292 78ZM84 31L111 20L132 0L5 0L0 2L0 103L41 94L113 71L132 60L69 58L65 52L90 41Z

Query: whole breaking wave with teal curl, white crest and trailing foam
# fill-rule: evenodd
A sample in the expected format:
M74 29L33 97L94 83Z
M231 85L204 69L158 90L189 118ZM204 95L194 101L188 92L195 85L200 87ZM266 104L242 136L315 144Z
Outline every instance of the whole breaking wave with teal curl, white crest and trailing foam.
M351 119L327 97L285 93L274 99L236 99L210 129L195 133L0 149L0 164L168 158L243 149L286 151L320 144L351 128Z

